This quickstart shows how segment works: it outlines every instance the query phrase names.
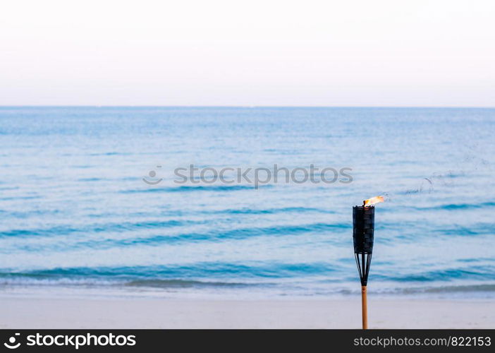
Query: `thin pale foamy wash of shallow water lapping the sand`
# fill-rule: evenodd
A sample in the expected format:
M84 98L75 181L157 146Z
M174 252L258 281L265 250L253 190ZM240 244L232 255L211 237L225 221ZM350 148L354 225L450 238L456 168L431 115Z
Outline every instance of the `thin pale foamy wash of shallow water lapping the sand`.
M469 298L475 297L494 297L495 283L474 283L469 285L439 285L431 286L414 286L401 285L393 283L373 282L370 287L370 293L374 297L379 296L439 296ZM281 282L277 280L269 280L264 282L255 282L249 280L202 280L202 279L182 279L182 278L165 278L165 279L105 279L92 277L58 277L58 278L33 278L33 277L0 277L0 289L11 290L16 288L30 288L30 292L34 288L50 288L50 293L53 293L54 288L73 288L81 295L80 292L84 289L96 289L99 294L104 294L106 290L110 290L110 294L118 295L116 290L126 290L130 293L145 295L151 290L156 294L157 291L164 293L178 293L182 290L195 290L202 294L226 294L229 295L236 291L236 295L240 297L250 297L253 292L263 297L268 296L304 296L304 297L328 297L329 295L359 295L359 282L327 282L325 285L316 284L314 282ZM214 291L214 292L212 292Z

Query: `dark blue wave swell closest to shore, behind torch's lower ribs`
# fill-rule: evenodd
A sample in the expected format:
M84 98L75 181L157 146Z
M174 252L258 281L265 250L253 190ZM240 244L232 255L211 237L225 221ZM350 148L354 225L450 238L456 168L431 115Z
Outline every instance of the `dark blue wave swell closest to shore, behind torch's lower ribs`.
M34 280L54 280L58 278L89 278L105 280L198 280L228 278L235 282L262 280L267 278L320 278L321 282L352 282L356 278L353 264L336 265L329 262L283 263L283 262L197 262L171 265L136 265L115 267L74 267L49 268L15 271L4 269L0 280L30 278ZM381 265L382 266L382 265ZM350 270L352 268L352 270ZM241 280L242 279L242 280ZM401 276L380 275L379 271L370 274L373 282L418 283L451 282L453 280L495 281L493 265L475 265L466 268L446 268ZM223 281L222 281L223 282Z

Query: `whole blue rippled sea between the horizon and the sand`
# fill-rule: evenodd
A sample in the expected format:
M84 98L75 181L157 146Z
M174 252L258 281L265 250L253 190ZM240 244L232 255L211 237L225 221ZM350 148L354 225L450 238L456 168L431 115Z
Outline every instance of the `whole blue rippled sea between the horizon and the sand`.
M352 295L352 206L386 195L370 293L495 297L494 133L495 109L0 107L0 291ZM190 164L352 181L178 184Z

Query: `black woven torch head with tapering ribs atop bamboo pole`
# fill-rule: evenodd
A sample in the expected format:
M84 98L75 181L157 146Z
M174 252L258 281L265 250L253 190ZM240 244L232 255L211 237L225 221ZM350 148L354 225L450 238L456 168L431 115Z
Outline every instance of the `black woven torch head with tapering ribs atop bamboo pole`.
M361 285L368 282L374 237L374 206L353 207L354 254Z

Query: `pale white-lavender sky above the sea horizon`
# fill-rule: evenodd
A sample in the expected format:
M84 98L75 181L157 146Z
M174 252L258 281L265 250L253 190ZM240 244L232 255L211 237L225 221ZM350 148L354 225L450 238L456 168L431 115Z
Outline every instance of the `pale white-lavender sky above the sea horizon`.
M0 105L495 107L493 0L15 0Z

